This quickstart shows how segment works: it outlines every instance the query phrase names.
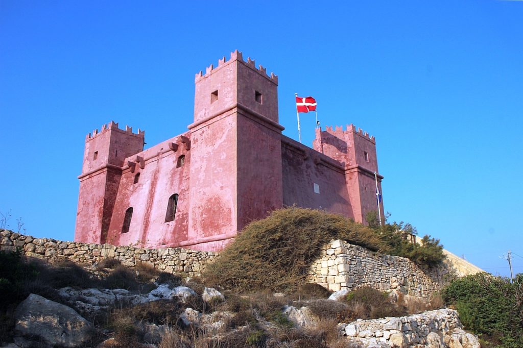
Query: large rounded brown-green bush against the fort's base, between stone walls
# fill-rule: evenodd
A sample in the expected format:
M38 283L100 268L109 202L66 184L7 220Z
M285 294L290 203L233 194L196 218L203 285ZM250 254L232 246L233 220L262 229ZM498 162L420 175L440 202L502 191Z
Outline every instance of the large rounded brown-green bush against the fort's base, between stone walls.
M321 247L343 239L385 250L379 234L343 216L289 207L249 224L204 272L206 282L237 291L296 291Z

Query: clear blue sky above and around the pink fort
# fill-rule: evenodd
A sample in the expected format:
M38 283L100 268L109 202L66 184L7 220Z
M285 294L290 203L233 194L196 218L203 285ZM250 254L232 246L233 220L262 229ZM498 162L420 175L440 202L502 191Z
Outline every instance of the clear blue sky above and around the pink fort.
M72 240L85 135L187 130L194 76L238 49L322 125L376 136L385 210L495 274L523 272L523 1L0 1L0 212ZM302 114L311 146L314 115Z

